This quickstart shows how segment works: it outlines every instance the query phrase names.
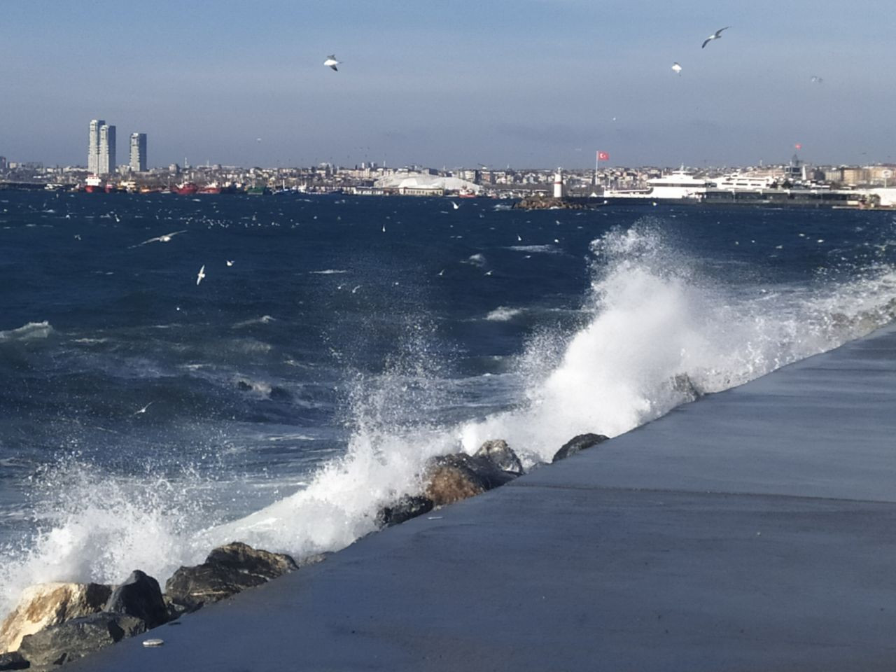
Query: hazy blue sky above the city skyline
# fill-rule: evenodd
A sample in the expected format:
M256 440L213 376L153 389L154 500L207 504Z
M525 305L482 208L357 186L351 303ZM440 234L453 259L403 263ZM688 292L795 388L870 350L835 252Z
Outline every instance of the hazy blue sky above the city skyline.
M151 166L577 168L598 149L616 165L730 165L785 161L796 142L816 163L896 160L896 10L883 0L0 9L12 160L85 165L91 118L117 126L119 162L131 133L148 134Z

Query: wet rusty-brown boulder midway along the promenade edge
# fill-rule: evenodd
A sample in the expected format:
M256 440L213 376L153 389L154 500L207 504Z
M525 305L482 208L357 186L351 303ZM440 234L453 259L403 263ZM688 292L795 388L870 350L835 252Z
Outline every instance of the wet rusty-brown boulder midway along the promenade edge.
M444 506L503 486L517 476L498 469L483 457L470 457L463 452L440 455L426 463L423 495L436 506Z

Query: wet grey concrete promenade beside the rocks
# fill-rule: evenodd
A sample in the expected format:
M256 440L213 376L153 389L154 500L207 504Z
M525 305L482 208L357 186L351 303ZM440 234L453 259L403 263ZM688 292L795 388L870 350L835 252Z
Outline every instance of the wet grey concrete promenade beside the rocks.
M892 672L896 325L430 516L65 669Z

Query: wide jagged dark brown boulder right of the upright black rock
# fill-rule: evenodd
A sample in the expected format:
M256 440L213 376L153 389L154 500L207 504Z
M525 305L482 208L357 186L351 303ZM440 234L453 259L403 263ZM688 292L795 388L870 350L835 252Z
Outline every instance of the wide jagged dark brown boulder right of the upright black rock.
M297 569L290 556L235 541L212 550L202 564L178 569L165 582L165 592L170 601L193 610Z

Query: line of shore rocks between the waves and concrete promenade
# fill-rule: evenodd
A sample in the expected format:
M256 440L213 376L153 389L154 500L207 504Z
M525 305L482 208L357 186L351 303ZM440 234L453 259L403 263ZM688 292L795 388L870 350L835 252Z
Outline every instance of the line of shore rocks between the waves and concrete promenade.
M607 436L598 434L575 436L552 461L606 440ZM473 455L437 456L426 461L421 492L384 505L376 521L380 528L391 527L503 486L523 473L516 452L500 439L487 441ZM288 555L234 541L212 549L202 564L177 569L164 591L141 570L134 570L117 586L61 582L30 586L0 624L0 670L55 669L323 559L313 556L297 563ZM143 642L144 646L163 644L160 637Z

